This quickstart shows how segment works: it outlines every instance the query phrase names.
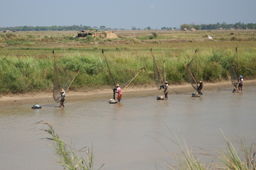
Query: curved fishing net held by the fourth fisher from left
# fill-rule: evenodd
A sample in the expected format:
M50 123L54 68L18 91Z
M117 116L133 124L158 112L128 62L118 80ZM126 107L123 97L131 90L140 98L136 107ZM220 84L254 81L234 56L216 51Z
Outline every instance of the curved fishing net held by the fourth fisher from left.
M197 77L197 70L196 70L196 59L195 57L190 61L190 63L186 66L186 72L187 76L189 78L190 84L193 86L193 88L197 91L197 83L196 83L196 77Z

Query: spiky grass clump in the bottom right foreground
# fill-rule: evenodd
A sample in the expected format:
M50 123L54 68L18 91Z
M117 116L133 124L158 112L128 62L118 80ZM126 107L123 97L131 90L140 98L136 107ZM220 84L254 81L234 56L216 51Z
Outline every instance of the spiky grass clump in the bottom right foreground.
M223 132L222 132L223 134ZM172 170L255 170L256 169L256 144L252 143L250 146L245 144L243 139L239 137L233 139L235 142L231 142L232 139L227 139L223 134L226 147L224 149L218 149L218 154L211 154L209 151L203 150L202 154L194 154L192 149L188 148L188 145L184 141L185 147L179 142L178 138L172 134L174 139L168 138L171 142L175 143L181 153L172 153L161 144L168 154L175 161L173 163L167 163ZM164 136L165 137L165 136ZM206 152L206 153L205 153ZM211 163L204 163L203 158L211 157L213 160ZM210 159L210 158L209 158ZM217 161L216 161L217 160Z

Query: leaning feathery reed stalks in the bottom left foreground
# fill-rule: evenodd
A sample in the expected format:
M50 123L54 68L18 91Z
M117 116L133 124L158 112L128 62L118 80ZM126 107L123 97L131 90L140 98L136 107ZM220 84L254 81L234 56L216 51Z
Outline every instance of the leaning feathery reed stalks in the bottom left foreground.
M57 162L60 163L65 170L94 170L93 148L91 149L91 152L87 146L79 150L86 152L87 158L85 160L83 157L78 157L75 153L75 150L59 138L58 134L54 131L53 126L49 124L49 122L43 121L38 122L37 124L46 124L48 126L49 129L43 129L42 131L46 131L48 134L52 136L46 137L46 139L51 140L53 142L54 149L56 150L56 155L59 156Z

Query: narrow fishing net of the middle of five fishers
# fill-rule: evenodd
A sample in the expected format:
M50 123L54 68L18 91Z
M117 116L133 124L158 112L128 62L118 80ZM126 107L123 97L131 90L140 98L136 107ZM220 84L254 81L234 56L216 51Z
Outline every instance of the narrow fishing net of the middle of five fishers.
M158 90L160 90L160 85L164 85L164 64L163 62L158 62L153 55L153 68L154 68L154 79L155 85Z

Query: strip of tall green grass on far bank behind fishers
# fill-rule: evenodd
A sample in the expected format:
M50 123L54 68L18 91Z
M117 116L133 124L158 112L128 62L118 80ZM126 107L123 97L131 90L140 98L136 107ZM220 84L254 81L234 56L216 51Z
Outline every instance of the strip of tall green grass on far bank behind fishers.
M186 44L189 45L189 44ZM200 44L201 46L203 44ZM199 48L198 48L199 47ZM198 79L207 82L216 82L229 79L229 61L235 53L235 46L228 49L216 49L211 47L195 46L187 48L167 48L156 46L153 48L158 63L166 60L166 79L169 84L184 84L188 82L184 61L189 63L197 51ZM249 49L249 50L248 50ZM116 82L125 83L117 76L122 68L140 70L138 78L133 85L154 84L153 59L150 49L137 49L131 46L115 46L107 48L106 57L111 66L111 72L116 73ZM97 48L79 49L69 47L68 49L55 50L58 62L70 72L81 70L70 90L87 89L95 85L108 86L108 68L101 50ZM238 58L240 75L246 79L255 78L255 73L247 68L256 70L256 47L238 47ZM50 49L28 50L1 50L0 52L0 82L1 93L24 93L34 91L51 91L53 88L53 65L54 58ZM123 72L123 75L130 73ZM123 77L123 76L122 76ZM121 82L120 82L121 81Z

